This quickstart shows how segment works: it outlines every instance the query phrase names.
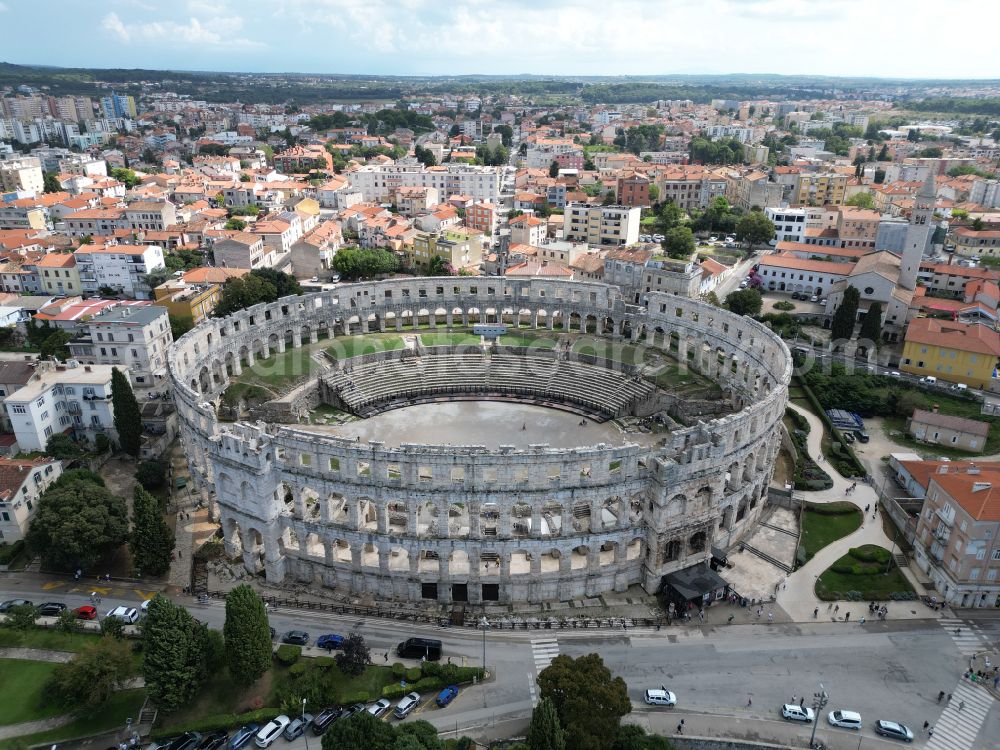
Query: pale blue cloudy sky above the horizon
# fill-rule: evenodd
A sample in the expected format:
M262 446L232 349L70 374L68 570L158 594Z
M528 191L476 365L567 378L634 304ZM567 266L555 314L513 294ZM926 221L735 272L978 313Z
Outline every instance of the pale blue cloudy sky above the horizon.
M0 59L398 75L1000 78L992 0L0 0Z

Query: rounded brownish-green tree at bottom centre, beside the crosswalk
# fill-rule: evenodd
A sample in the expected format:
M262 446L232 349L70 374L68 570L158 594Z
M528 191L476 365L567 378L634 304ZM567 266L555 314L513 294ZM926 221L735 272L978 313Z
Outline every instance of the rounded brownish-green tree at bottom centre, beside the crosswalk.
M555 705L573 750L605 750L632 710L625 680L613 677L598 654L557 656L538 675L538 688Z

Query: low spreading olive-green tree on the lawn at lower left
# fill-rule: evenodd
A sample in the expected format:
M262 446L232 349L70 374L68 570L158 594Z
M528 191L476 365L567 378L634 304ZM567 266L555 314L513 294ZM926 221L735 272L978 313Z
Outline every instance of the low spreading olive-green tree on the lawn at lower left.
M57 666L45 694L64 708L98 708L124 688L134 673L131 646L115 638L101 638Z

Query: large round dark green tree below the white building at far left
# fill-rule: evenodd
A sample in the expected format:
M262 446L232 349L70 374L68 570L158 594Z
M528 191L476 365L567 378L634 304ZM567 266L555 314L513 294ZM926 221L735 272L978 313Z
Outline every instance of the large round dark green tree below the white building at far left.
M92 568L128 539L124 498L89 474L65 472L39 498L25 542L46 567Z

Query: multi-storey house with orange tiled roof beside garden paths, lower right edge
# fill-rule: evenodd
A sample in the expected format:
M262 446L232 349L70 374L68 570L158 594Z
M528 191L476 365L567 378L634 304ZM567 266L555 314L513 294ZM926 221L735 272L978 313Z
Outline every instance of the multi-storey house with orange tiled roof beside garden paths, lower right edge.
M1000 471L941 466L917 521L917 565L956 607L1000 607Z

